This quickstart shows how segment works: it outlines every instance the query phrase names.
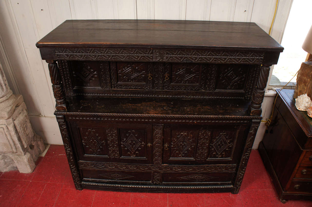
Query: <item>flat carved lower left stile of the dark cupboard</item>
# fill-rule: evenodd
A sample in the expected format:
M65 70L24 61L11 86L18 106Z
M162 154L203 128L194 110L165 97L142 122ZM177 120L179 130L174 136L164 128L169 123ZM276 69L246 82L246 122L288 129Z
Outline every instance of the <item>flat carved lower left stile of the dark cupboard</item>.
M64 143L64 148L69 164L69 168L71 170L71 176L73 177L73 181L77 190L82 190L81 179L77 168L77 161L73 154L72 143L68 134L67 125L65 122L65 117L62 115L56 115L57 123L60 127L61 136Z

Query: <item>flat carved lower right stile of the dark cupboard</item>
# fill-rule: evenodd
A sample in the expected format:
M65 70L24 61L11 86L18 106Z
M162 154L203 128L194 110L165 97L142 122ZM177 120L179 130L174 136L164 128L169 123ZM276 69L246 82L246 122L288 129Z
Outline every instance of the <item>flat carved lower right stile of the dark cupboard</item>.
M260 125L260 122L261 120L256 120L256 119L252 120L252 124L249 130L249 133L247 135L244 151L241 156L241 161L239 164L235 182L233 184L233 190L232 190L233 194L237 194L241 187L241 182L243 181L243 177L244 177L246 167L247 167L247 162L251 153L251 148L252 148L253 142L255 141L256 133Z

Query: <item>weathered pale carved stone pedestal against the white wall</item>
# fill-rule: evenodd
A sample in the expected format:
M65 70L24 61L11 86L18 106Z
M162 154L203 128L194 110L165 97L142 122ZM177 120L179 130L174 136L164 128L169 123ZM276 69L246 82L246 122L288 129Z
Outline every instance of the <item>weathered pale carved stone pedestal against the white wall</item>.
M33 131L22 96L12 94L0 65L0 171L17 168L21 173L32 172L44 148Z

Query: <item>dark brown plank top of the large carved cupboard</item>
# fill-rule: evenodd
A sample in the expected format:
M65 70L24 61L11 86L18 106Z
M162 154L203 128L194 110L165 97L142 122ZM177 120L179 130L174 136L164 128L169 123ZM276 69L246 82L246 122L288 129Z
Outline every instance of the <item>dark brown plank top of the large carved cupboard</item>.
M282 52L253 22L184 20L66 20L38 48L197 48Z

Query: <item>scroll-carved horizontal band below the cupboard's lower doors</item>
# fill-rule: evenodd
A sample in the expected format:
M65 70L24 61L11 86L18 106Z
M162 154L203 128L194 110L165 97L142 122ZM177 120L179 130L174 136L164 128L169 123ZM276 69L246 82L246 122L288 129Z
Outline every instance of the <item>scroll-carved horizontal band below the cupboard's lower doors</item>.
M121 164L105 162L87 162L79 161L81 169L98 169L98 170L129 170L129 171L163 171L163 172L235 172L236 165L139 165L139 164Z

